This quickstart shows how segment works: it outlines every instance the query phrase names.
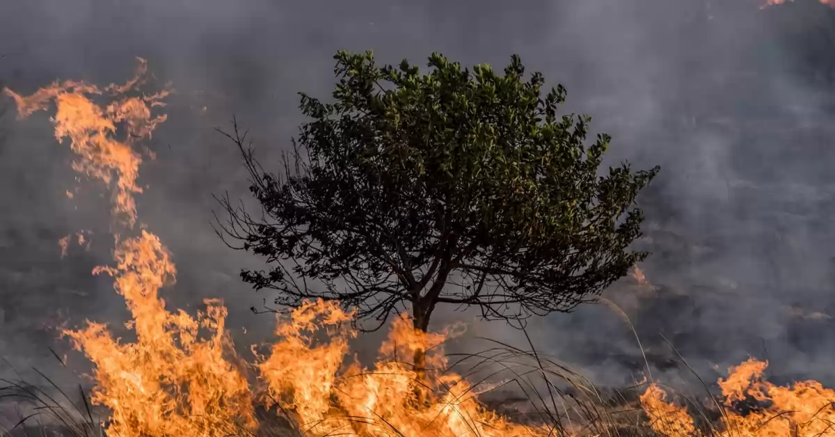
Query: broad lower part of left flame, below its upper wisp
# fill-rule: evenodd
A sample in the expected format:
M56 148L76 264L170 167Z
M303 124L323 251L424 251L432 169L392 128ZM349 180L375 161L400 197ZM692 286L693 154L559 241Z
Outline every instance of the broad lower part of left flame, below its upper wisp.
M94 404L106 405L108 435L227 435L231 424L253 428L254 408L244 373L227 358L226 308L205 301L192 318L169 313L159 288L174 280L175 266L157 236L142 231L115 252L114 287L132 315L135 343L120 343L101 323L65 330L95 364ZM204 328L209 338L199 337Z

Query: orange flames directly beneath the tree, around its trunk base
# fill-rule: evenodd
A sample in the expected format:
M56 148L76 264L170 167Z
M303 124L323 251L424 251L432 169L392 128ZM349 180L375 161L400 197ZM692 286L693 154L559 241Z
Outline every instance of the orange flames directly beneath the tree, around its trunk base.
M348 340L357 334L345 323L351 317L335 303L307 303L290 322L279 323L281 340L258 364L266 403L279 399L306 435L539 435L488 411L461 376L444 373L448 363L439 345L448 333L417 332L406 316L392 323L373 369L352 363L339 373ZM313 341L317 332L326 333L325 343ZM430 351L424 378L402 360L417 349Z

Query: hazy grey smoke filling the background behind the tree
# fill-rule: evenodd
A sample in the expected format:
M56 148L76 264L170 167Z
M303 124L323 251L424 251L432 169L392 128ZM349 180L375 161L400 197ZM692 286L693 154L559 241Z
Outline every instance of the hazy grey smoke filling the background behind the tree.
M174 84L169 120L149 143L157 159L140 170L149 186L140 216L174 253L170 305L222 297L229 326L248 330L237 341L254 343L273 321L252 317L248 308L266 296L237 272L261 261L225 247L210 226L212 195L248 196L245 172L212 128L228 128L235 114L261 160L277 164L302 121L295 93L330 92L339 48L373 48L389 63L439 51L498 66L519 53L529 69L567 87L569 111L594 115L593 128L615 136L612 162L662 165L641 198L642 244L653 252L643 268L655 288L637 290L626 278L607 292L650 349L656 376L677 372L666 364L675 354L663 334L708 377L714 365L751 354L771 359L772 373L786 378L835 382L823 317L835 259L827 222L832 89L809 79L817 61L797 55L807 42L795 34L831 12L811 1L759 6L31 0L4 5L0 82L18 93L54 79L120 82L142 56L160 83ZM797 8L814 13L798 23ZM50 327L83 318L119 324L124 304L89 274L109 260L106 199L93 184L74 182L46 115L23 123L14 115L0 115L0 354L18 367L52 368L48 348L66 347L56 346ZM76 185L70 201L65 191ZM90 250L73 246L61 259L58 239L82 229L93 231ZM444 312L438 323L462 317ZM496 323L474 332L522 341ZM540 349L605 383L632 379L642 365L630 328L609 307L532 321L529 333Z

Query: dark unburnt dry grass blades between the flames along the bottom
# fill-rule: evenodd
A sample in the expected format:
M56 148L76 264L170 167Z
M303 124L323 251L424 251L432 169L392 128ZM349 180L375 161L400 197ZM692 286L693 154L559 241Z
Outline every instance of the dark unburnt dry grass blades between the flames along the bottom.
M522 349L482 340L492 343L492 347L480 353L450 355L448 370L462 374L475 388L483 389L486 393L480 394L480 398L488 408L517 423L527 424L531 429L557 437L658 435L638 401L645 384L625 389L598 389L581 374L539 353L530 342L528 349ZM104 434L99 425L102 420L94 414L80 385L73 391L82 400L73 402L47 375L38 374L45 383L40 387L23 379L0 380L0 405L13 404L19 413L15 423L3 424L6 428L0 429L0 434L62 437L100 437ZM709 393L706 384L701 384L704 393ZM695 399L682 397L680 400L686 402L692 416L698 418L699 435L716 434L716 427L722 422L720 414ZM228 434L253 437L304 437L306 434L291 419L291 412L261 409L258 415L261 428L256 433L230 424Z

